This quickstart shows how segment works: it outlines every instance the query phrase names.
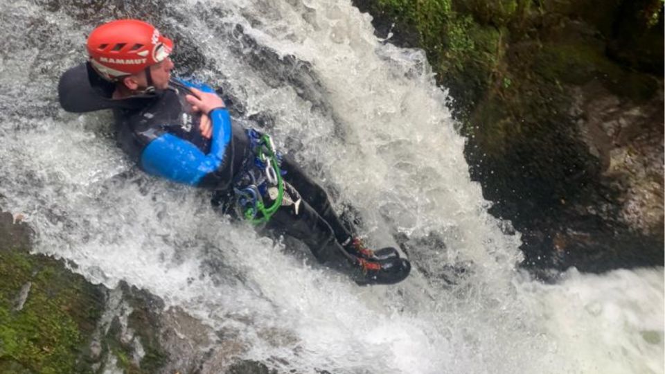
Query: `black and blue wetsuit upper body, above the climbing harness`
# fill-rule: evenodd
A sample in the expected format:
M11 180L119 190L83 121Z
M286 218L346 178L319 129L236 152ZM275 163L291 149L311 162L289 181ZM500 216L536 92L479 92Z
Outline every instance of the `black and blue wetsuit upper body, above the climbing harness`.
M242 167L248 139L233 125L227 109L210 113L211 139L199 131L200 114L185 100L189 87L213 90L202 84L171 80L141 109L114 109L118 143L149 174L182 184L226 190Z

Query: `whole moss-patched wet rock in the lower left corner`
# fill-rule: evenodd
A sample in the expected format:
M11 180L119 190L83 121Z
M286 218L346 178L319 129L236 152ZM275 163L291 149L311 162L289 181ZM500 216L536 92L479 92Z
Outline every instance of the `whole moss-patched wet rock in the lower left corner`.
M0 212L0 300L8 301L0 303L0 373L193 373L209 359L208 326L164 310L145 290L126 283L108 290L62 260L30 255L29 233ZM237 354L233 339L220 349ZM37 349L25 346L30 341Z

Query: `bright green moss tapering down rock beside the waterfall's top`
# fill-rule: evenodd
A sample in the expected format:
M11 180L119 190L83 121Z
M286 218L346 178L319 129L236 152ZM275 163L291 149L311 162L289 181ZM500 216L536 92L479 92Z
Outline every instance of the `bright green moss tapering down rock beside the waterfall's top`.
M522 17L525 3L378 0L373 11L407 25L401 28L416 30L420 46L438 73L438 83L450 89L456 100L454 112L463 117L470 114L491 82L503 81L504 26Z

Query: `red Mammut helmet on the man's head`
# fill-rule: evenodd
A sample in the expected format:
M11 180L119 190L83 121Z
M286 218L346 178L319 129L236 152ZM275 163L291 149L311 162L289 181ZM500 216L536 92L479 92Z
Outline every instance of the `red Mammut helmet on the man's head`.
M98 26L88 37L90 63L106 80L139 73L170 55L173 42L138 19L120 19Z

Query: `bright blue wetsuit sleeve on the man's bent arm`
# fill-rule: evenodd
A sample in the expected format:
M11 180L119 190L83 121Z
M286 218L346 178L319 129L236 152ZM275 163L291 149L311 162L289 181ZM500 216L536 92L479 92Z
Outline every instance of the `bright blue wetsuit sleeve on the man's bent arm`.
M196 145L172 134L151 141L141 153L141 167L146 172L178 183L197 185L224 162L231 141L231 116L227 109L210 113L213 134L210 152L204 154Z

